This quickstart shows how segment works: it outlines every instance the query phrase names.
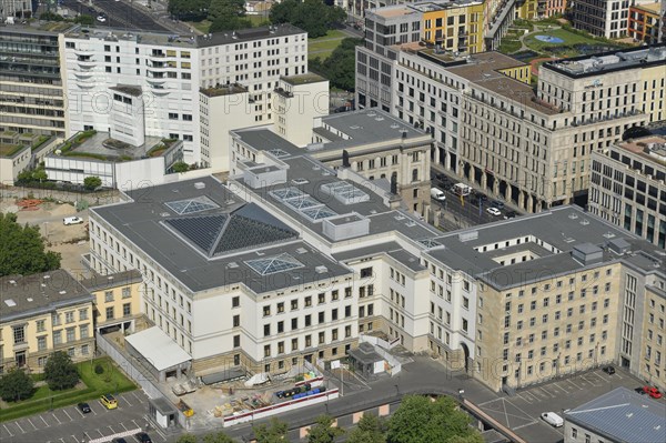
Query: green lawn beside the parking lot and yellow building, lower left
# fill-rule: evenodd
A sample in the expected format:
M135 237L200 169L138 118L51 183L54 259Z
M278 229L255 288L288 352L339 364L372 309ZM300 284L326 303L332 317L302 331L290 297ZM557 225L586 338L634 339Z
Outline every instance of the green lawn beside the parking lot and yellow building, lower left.
M97 364L104 368L102 374L94 373ZM81 382L85 387L53 392L49 386L40 386L31 399L10 403L9 407L2 409L0 422L38 414L50 409L69 406L79 402L94 401L102 394L115 394L137 389L137 385L125 377L109 358L95 359L92 364L90 361L78 363L77 368L79 369Z

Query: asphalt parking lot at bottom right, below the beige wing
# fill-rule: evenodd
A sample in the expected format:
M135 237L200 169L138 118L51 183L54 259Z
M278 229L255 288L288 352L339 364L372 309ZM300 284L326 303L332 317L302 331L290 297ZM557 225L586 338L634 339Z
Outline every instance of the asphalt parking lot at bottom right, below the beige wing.
M553 427L541 419L543 412L564 416L564 410L577 407L616 387L634 390L644 383L616 368L614 375L601 369L537 386L518 390L478 404L484 412L512 429L528 442L551 443L564 439L564 427ZM646 401L657 401L646 397ZM664 401L664 400L658 400Z

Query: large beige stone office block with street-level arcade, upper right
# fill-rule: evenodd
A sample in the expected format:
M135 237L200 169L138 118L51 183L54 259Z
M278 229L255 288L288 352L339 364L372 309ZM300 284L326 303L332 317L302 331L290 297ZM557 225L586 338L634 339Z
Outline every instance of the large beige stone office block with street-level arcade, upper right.
M390 85L372 80L359 52L357 103L424 128L434 164L527 212L584 203L592 151L666 118L664 46L546 62L536 92L529 67L500 53L461 57L417 43L391 51Z

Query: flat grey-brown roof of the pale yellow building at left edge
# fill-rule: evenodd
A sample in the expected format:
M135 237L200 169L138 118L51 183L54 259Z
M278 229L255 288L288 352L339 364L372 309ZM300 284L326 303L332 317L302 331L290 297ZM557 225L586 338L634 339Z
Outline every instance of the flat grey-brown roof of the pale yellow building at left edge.
M69 272L59 269L32 275L0 278L0 321L9 322L92 301Z

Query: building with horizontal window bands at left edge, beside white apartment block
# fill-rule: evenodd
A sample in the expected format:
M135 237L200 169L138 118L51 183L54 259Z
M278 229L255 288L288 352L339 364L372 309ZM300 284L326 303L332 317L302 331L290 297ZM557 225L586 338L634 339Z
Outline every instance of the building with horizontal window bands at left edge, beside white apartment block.
M0 131L65 137L58 32L70 27L46 23L0 28Z

